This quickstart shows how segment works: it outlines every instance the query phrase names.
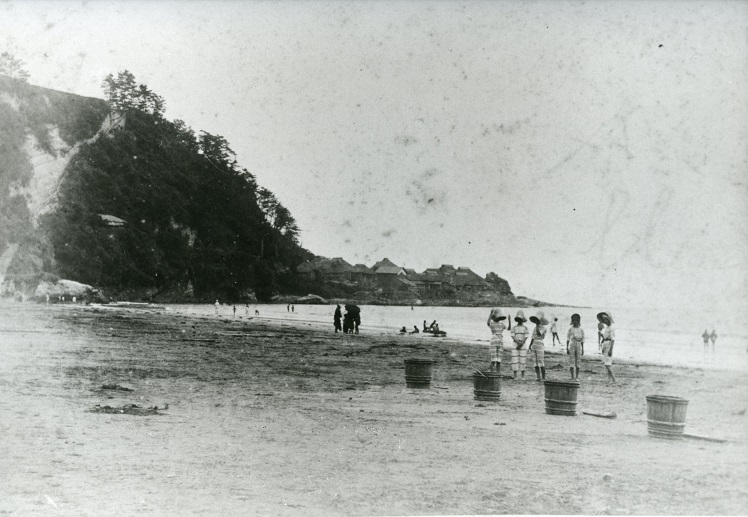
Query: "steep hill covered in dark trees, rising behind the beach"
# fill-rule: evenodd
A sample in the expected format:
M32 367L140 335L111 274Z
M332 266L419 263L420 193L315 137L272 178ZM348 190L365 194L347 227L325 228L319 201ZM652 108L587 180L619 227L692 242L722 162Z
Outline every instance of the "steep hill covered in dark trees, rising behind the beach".
M108 102L0 83L8 100L0 102L0 242L28 243L8 273L48 271L135 297L263 299L293 290L295 265L313 255L298 244L288 210L239 167L228 142L167 120L163 99L128 72L104 85ZM28 135L44 147L57 129L72 145L92 137L110 111L117 128L80 145L55 208L34 229L35 214L13 195L33 172Z

